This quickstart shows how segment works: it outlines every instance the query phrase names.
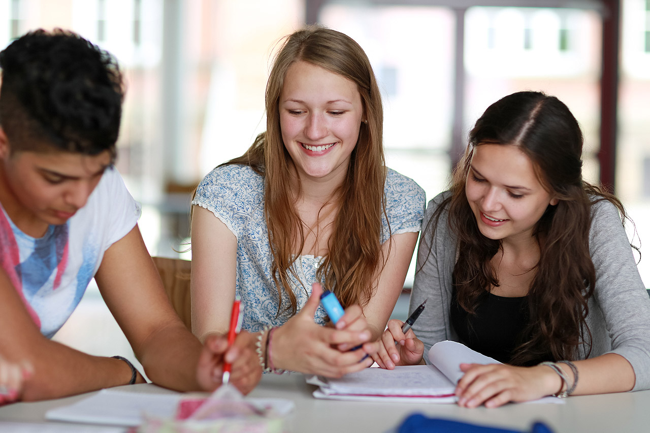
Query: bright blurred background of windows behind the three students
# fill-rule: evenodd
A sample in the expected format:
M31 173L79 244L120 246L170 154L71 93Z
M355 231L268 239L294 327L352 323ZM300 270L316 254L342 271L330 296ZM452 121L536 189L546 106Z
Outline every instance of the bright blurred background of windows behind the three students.
M369 55L387 163L427 200L487 105L543 90L582 126L586 178L614 187L649 239L650 0L0 0L0 47L62 27L116 56L127 85L117 166L143 203L140 229L152 255L190 258L192 189L265 129L274 47L315 21ZM650 261L639 269L650 287ZM57 338L113 332L75 325L105 313L96 289L87 297Z

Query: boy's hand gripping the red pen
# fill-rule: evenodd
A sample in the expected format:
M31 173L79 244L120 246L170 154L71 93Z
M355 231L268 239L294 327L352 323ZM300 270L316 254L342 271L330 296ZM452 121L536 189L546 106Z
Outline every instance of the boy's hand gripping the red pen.
M221 385L224 363L231 363L230 383L242 394L248 394L257 385L262 376L255 353L257 334L242 330L235 338L235 343L228 347L226 335L212 334L205 338L196 368L196 379L201 388L213 391Z

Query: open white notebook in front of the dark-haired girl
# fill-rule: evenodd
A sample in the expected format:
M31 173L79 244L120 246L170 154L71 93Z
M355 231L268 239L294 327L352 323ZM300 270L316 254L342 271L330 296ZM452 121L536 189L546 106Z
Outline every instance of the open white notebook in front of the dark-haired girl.
M409 403L453 403L454 389L463 376L460 363L499 363L455 341L441 341L429 350L432 365L398 366L393 370L369 368L343 378L307 378L318 385L318 399ZM537 400L561 402L556 397Z

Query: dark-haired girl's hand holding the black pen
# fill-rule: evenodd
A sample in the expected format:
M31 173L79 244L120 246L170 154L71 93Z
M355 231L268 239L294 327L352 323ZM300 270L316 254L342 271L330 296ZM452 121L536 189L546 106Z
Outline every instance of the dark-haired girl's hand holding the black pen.
M404 322L397 319L389 321L377 353L371 355L382 369L392 370L395 365L415 365L424 361L424 343L415 336L413 330L407 330L406 334L402 332L403 326Z

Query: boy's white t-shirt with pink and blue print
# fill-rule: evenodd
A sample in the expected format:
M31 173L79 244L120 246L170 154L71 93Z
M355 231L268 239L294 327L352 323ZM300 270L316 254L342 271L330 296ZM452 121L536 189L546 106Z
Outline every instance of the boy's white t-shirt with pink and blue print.
M140 204L115 168L106 170L84 207L43 237L26 235L0 209L0 265L47 338L77 308L104 252L140 217Z

